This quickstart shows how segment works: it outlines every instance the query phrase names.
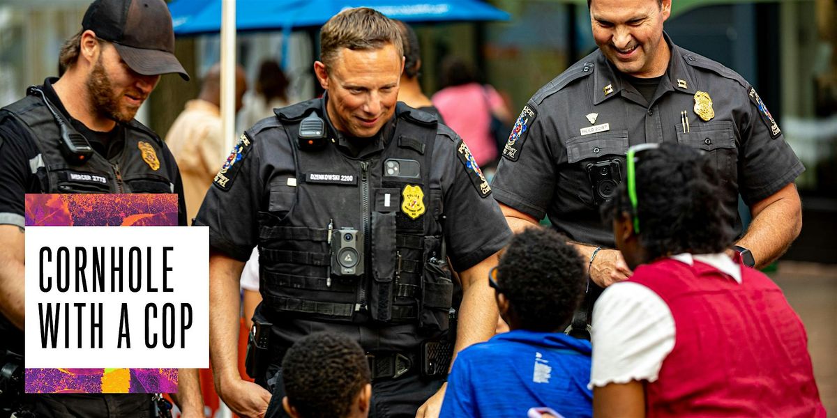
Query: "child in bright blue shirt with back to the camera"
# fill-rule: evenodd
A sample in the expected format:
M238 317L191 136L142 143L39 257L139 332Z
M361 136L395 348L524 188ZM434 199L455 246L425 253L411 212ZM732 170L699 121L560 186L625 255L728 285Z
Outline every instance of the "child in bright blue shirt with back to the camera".
M582 257L557 232L528 228L488 280L511 331L457 355L440 416L524 417L532 407L591 416L590 343L562 333L587 283Z

